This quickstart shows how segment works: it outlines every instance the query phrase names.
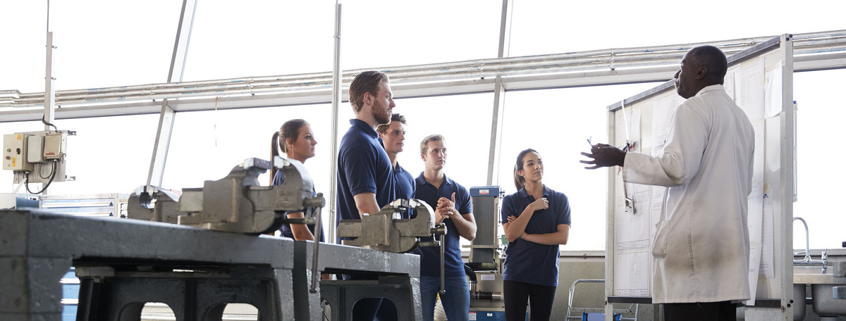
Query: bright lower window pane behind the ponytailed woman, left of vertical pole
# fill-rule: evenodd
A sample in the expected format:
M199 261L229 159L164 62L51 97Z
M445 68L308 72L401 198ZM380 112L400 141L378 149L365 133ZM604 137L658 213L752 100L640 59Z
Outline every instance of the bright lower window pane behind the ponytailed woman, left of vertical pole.
M283 122L302 118L310 122L317 140L316 155L305 167L317 192L328 193L330 109L328 105L308 105L179 113L162 184L166 188L201 188L206 180L226 177L247 158L269 160L272 134ZM269 185L269 177L265 173L259 182Z

